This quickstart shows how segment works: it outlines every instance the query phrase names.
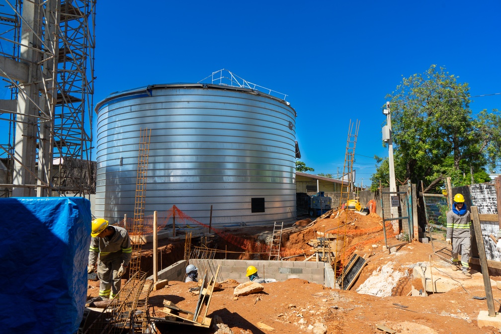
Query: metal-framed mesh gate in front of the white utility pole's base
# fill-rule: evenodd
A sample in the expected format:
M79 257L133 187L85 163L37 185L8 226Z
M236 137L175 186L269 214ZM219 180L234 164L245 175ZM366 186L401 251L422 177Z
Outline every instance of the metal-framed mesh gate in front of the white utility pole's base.
M412 239L412 202L408 191L381 191L384 243L389 249Z

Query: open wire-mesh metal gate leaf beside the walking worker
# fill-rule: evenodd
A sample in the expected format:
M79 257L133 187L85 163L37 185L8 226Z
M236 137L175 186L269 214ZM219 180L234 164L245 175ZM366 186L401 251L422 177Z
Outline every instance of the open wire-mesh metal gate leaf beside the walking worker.
M447 232L447 196L442 194L423 194L426 232L430 237L433 253L445 261L451 259L452 247L445 242Z

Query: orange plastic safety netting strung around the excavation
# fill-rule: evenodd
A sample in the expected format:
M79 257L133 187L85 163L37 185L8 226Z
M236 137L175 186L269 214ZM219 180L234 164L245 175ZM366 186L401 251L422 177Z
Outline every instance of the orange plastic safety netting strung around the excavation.
M175 219L175 224L173 224L173 220ZM132 224L133 218L127 217L127 220L122 219L117 225L121 227L126 227L126 225ZM181 227L181 228L193 228L192 225L198 225L200 227L209 229L209 225L206 225L204 223L201 223L181 210L179 210L175 205L172 206L171 209L167 211L159 211L157 212L157 231L160 231L165 228L167 225L175 225L175 227ZM387 223L389 224L389 223ZM173 226L174 228L174 226ZM347 229L345 231L340 231L340 230L332 230L329 231L328 233L330 234L338 234L338 235L345 235L345 236L350 236L350 237L355 237L355 236L360 236L364 234L372 234L376 233L378 231L381 231L383 228L382 226L378 227L373 227L373 228L367 228L367 229ZM263 244L261 242L256 242L256 241L250 241L247 239L244 239L242 237L236 236L234 234L231 234L229 232L223 231L219 228L214 228L210 227L210 230L216 233L219 237L223 238L227 242L240 247L241 249L252 252L252 253L270 253L270 245L268 244ZM392 229L389 229L392 231ZM143 222L143 235L147 234L152 234L153 233L153 215L145 216L144 217L144 222ZM326 231L327 233L327 231ZM373 238L369 238L363 241L360 241L356 244L351 245L348 247L342 254L341 256L341 263L346 263L351 254L353 252L364 245L367 244L373 244L375 242L379 242L383 239L383 236L376 236ZM294 255L300 255L304 254L305 251L302 249L290 249L290 248L285 248L281 247L280 248L280 253L282 257L288 257L288 256L294 256Z

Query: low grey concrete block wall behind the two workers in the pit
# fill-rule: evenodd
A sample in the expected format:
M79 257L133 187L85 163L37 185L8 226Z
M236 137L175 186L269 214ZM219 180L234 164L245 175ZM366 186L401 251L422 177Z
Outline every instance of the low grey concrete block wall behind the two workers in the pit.
M239 283L246 282L248 281L245 275L247 267L254 265L262 278L275 278L278 281L301 278L327 287L334 287L334 271L328 263L324 262L191 259L189 263L198 268L199 275L207 272L209 276L215 275L217 266L220 265L216 281L231 278Z

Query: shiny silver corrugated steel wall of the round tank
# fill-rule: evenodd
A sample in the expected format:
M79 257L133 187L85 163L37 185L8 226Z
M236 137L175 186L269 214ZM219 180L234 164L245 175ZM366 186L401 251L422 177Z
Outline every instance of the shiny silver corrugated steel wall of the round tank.
M133 217L140 128L151 129L145 214L176 205L212 225L296 217L296 112L287 102L218 85L154 85L101 101L97 217ZM258 200L256 200L258 198ZM264 198L265 212L259 209Z

